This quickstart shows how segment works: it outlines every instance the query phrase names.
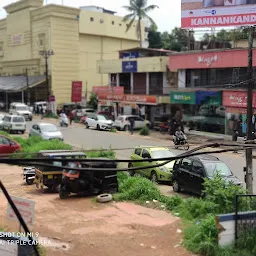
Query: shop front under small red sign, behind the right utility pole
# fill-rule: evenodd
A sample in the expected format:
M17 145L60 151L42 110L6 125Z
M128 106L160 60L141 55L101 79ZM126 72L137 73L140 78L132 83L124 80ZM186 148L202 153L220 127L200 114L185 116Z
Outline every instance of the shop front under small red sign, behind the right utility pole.
M256 131L256 92L253 93L253 131ZM223 105L226 109L225 133L233 134L234 127L239 127L239 136L246 135L247 122L247 92L223 91ZM239 123L237 126L236 123Z

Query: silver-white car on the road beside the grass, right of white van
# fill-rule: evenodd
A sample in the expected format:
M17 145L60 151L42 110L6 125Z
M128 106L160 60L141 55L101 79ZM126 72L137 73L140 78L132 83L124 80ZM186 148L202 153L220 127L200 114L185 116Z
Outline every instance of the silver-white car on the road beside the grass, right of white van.
M64 140L63 135L58 128L49 123L34 124L29 132L29 136L40 136L44 140Z

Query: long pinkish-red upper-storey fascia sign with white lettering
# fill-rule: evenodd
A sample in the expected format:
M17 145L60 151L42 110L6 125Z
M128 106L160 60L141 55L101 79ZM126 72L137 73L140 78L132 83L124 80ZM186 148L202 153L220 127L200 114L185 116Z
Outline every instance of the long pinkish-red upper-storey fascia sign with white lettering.
M233 68L248 66L248 50L234 49L201 53L175 54L169 57L170 70ZM253 51L253 66L256 66L256 50Z

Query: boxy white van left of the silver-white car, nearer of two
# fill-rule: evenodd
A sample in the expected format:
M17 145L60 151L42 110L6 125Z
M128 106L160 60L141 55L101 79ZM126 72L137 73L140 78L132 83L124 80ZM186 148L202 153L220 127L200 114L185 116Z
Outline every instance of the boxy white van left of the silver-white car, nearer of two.
M22 134L26 131L26 121L24 116L17 115L6 115L3 118L3 130L12 132L21 132Z

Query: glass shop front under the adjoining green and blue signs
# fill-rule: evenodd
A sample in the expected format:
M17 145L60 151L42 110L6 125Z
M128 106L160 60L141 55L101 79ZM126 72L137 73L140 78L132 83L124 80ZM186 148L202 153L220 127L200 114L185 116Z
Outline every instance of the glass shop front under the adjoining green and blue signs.
M221 91L171 92L171 112L190 130L225 132L225 110Z

